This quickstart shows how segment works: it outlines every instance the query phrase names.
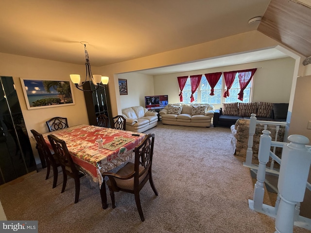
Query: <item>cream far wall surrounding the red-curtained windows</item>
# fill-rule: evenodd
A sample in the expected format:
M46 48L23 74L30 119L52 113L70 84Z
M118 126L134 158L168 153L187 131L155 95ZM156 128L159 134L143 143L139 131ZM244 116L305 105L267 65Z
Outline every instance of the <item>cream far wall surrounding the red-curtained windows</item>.
M179 102L179 86L176 78L178 76L240 70L254 67L259 68L254 75L254 90L252 101L288 103L293 81L293 58L280 58L236 66L217 67L211 69L157 75L154 77L155 93L158 95L169 95L170 103ZM214 107L219 108L221 106L214 105Z

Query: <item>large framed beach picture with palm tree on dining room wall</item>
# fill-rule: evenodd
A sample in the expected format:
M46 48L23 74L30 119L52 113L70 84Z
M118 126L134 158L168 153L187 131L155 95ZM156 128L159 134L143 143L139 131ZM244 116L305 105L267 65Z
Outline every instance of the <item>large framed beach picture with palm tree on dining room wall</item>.
M69 81L20 78L28 109L73 105L72 85Z

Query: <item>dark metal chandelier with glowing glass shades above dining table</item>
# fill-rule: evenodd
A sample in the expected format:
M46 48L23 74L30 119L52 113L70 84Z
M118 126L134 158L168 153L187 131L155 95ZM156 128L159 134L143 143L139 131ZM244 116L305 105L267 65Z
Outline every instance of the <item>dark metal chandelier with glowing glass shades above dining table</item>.
M91 64L89 63L88 59L88 53L86 51L86 44L88 44L86 41L81 41L81 44L84 45L84 51L86 55L86 79L84 82L81 82L81 78L79 74L70 74L70 79L71 82L74 83L75 87L78 88L81 91L86 91L86 92L94 92L96 91L99 87L104 87L106 84L108 84L109 78L106 76L102 76L100 74L92 74L91 70ZM83 89L80 87L83 87L83 85L89 82L90 88Z

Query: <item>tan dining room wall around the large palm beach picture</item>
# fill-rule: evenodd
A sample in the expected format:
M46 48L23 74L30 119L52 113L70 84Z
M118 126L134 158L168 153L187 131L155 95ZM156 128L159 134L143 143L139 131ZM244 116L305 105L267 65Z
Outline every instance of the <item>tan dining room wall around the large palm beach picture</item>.
M69 81L70 73L84 74L85 66L0 53L0 76L13 77L29 136L32 136L31 129L39 133L47 133L45 121L54 116L67 117L69 126L88 124L84 93L76 88L73 88L75 105L27 109L20 78ZM40 163L37 150L35 150L35 141L31 140L31 143L36 163Z

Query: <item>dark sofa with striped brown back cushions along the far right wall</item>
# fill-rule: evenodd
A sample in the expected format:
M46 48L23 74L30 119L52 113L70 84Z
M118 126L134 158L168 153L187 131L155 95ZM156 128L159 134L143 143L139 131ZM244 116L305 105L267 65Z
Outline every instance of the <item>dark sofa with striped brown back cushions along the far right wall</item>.
M213 126L234 125L240 118L249 119L252 113L258 120L286 121L288 103L223 103L223 107L216 109L213 117Z

